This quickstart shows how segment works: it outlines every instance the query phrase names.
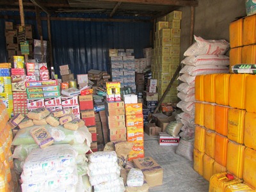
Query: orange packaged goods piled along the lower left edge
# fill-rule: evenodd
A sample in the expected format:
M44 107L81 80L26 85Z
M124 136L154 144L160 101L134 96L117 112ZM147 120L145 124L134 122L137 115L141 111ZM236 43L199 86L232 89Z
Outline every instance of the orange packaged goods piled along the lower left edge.
M8 111L3 101L0 100L0 127L1 127L1 190L17 191L17 175L13 172L13 157L11 151L12 129L7 123L9 120Z

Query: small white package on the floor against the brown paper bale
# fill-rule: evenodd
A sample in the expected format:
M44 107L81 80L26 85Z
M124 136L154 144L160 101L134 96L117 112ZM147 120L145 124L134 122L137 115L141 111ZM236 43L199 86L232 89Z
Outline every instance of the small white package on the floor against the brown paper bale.
M141 187L143 185L143 173L140 169L132 168L127 175L128 187Z

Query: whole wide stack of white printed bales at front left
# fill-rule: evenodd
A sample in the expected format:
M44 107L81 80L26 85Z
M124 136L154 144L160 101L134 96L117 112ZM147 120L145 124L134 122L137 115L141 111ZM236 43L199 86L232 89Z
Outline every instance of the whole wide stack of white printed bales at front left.
M76 150L68 144L34 149L23 166L22 191L76 192L76 157Z

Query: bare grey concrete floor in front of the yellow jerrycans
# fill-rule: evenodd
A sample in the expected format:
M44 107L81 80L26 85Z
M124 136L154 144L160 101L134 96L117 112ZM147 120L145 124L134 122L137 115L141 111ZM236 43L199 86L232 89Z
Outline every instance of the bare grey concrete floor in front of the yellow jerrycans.
M175 154L177 146L160 146L156 136L145 133L145 157L153 157L164 169L163 185L150 188L153 191L206 192L209 182L193 170L193 162Z

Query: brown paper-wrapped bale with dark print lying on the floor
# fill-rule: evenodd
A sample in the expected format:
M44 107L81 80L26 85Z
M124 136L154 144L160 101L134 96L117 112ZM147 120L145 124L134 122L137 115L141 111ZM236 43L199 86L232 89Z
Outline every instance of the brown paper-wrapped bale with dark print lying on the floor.
M161 186L163 184L163 168L152 157L133 159L134 166L142 170L148 186Z

